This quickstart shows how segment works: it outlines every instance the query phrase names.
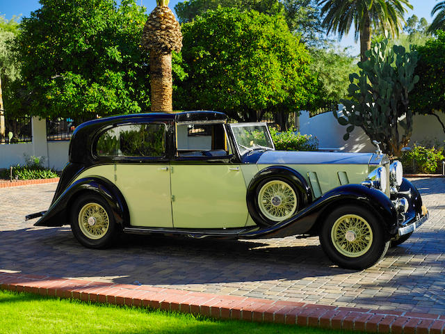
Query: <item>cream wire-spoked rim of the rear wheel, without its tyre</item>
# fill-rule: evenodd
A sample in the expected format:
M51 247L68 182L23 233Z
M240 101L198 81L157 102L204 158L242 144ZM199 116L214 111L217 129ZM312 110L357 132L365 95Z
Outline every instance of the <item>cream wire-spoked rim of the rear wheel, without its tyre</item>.
M106 234L110 226L110 219L102 205L88 203L79 212L79 228L89 239L97 240Z

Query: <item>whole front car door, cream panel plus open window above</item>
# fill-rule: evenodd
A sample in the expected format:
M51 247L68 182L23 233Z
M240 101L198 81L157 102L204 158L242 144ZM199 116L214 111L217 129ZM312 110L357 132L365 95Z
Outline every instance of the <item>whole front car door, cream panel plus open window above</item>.
M170 168L175 228L245 226L246 186L240 165L229 163L225 136L223 125L177 125L178 154Z

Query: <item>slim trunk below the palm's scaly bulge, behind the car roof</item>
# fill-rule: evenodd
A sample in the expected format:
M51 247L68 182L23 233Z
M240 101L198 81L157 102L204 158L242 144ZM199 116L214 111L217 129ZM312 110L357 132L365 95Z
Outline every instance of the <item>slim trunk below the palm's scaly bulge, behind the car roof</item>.
M152 111L172 112L172 54L150 51Z

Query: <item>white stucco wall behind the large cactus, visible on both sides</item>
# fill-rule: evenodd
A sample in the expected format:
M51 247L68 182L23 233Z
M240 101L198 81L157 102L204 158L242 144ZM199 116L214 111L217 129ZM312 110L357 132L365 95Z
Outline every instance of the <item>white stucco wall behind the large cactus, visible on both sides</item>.
M440 115L445 123L444 113ZM309 112L302 111L300 114L300 132L302 134L312 134L320 141L321 149L335 149L346 152L373 152L375 146L369 137L359 127L355 127L350 134L348 141L343 141L343 134L346 134L346 127L339 125L332 113L322 113L321 115L309 118ZM421 142L425 139L437 139L444 145L445 133L442 126L434 116L416 115L413 120L413 131L410 145L414 142Z

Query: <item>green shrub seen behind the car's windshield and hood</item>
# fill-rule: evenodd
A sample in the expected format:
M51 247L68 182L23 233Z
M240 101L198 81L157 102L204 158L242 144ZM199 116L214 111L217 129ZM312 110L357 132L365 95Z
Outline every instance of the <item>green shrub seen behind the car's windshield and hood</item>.
M318 139L312 134L300 134L295 129L278 132L270 128L275 149L282 151L316 151L318 150Z

